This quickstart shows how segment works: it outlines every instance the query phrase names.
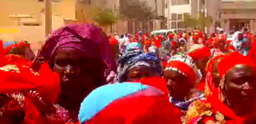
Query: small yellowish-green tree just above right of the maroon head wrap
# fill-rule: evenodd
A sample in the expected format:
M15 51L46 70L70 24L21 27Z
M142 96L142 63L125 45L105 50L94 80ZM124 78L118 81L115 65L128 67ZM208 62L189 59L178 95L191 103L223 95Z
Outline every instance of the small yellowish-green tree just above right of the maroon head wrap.
M106 30L108 26L115 24L117 20L118 17L115 16L113 10L109 8L98 9L93 17L93 21L97 22L104 30Z

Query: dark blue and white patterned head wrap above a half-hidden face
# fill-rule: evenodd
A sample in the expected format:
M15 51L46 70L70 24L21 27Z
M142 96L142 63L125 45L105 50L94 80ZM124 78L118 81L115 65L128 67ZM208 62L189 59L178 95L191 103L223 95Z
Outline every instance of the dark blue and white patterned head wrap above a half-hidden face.
M158 72L160 75L162 75L161 64L159 62L158 57L151 53L141 53L139 55L127 59L123 63L123 66L121 67L121 70L118 73L119 81L125 81L126 74L129 72L129 70L137 66L151 67L152 69L156 70L156 72Z

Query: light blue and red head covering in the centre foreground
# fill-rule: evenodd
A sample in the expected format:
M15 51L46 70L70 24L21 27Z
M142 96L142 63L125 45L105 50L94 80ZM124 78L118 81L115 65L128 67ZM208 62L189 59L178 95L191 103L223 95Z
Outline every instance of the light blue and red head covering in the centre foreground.
M113 90L115 89L115 90ZM180 112L156 87L116 83L99 87L82 102L81 124L182 124Z

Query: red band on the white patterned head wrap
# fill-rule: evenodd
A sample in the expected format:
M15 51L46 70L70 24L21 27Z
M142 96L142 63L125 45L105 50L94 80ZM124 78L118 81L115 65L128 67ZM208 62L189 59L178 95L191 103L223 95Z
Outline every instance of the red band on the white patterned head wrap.
M196 83L196 79L197 79L196 74L193 71L193 69L189 67L186 63L181 61L172 61L166 65L166 68L168 67L175 67L179 69L180 71L184 72L187 75L191 84L194 85Z

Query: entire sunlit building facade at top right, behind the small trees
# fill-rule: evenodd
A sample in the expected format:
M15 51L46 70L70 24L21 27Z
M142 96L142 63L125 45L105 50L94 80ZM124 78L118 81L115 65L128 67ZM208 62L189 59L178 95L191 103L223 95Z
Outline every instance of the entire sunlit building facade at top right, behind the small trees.
M203 12L213 18L207 32L215 32L216 27L225 32L243 27L256 32L255 6L256 0L165 0L166 27L182 30L184 14L197 17L197 13Z

